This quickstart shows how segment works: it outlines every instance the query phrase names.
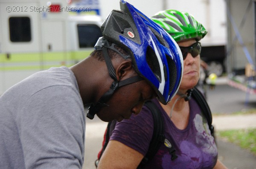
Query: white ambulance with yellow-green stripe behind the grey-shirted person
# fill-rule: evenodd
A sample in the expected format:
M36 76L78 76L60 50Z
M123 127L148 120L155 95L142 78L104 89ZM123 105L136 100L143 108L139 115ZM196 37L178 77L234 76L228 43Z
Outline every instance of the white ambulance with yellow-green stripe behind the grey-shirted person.
M71 66L102 36L99 9L80 1L0 1L0 95L40 70Z

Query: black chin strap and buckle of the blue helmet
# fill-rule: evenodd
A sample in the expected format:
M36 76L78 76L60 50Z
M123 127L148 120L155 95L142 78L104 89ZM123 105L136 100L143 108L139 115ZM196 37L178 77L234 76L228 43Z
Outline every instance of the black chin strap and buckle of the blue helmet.
M111 98L111 96L113 95L113 93L116 89L118 89L121 86L128 85L128 84L131 84L134 82L139 82L139 81L143 80L143 78L141 76L137 75L137 76L133 76L133 77L127 78L125 80L122 80L120 82L117 81L115 69L113 67L110 57L108 56L107 48L110 48L110 49L116 51L124 59L125 58L127 59L129 56L122 55L116 48L114 48L114 45L115 44L112 43L112 45L110 46L107 40L101 38L98 40L98 42L96 43L96 46L95 46L97 51L102 50L103 56L104 56L104 59L105 59L105 62L106 62L107 68L108 68L108 73L110 74L111 78L114 79L114 82L112 83L110 89L106 93L104 93L104 95L102 95L102 97L99 99L99 101L96 104L92 103L90 105L88 112L87 112L87 117L90 119L93 119L94 115L96 113L98 113L101 108L108 107L108 104L106 104L106 102Z

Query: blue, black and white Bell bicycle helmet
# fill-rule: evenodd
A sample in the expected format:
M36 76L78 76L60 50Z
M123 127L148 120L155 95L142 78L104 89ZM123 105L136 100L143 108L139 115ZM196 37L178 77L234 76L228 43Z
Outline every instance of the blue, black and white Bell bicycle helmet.
M103 37L96 43L96 49L103 51L107 61L108 52L105 48L111 48L118 53L113 45L123 48L129 56L119 54L125 59L132 59L134 69L140 78L151 85L161 103L167 104L177 93L182 78L183 58L180 48L163 28L134 6L120 0L120 8L121 10L111 11L102 24ZM115 75L111 73L112 64L107 65L111 77L115 80ZM140 78L135 78L132 82ZM112 86L120 87L116 83L119 82L113 82ZM113 88L116 89L112 87L111 90Z

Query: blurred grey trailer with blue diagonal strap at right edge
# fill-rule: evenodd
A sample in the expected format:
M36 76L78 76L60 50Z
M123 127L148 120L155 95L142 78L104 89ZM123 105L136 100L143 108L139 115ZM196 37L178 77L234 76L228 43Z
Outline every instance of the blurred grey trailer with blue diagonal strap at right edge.
M226 0L230 86L256 94L256 0Z

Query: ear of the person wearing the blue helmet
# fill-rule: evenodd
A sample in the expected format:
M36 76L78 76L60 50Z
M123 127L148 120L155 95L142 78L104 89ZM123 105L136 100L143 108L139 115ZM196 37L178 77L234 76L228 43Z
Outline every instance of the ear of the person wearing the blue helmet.
M125 60L116 68L116 77L118 81L123 79L125 76L127 76L127 78L130 77L131 73L134 73L131 61Z

